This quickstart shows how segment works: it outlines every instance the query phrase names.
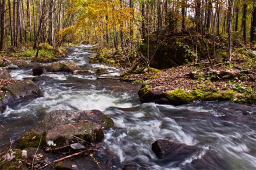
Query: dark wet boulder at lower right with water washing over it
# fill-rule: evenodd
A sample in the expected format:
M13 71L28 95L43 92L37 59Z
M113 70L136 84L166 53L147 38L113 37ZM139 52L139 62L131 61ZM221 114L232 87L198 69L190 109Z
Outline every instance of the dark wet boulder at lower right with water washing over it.
M172 163L173 167L186 170L232 169L232 166L209 147L200 148L160 139L152 144L159 162ZM170 167L171 168L171 167Z

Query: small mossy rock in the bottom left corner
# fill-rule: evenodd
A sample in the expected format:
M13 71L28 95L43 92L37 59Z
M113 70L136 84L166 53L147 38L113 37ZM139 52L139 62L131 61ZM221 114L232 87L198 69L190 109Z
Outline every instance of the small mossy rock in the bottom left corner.
M4 158L0 159L0 169L1 170L22 170L25 169L25 159L22 156L22 150L12 149L9 151L9 156L15 156L11 160L6 160ZM2 155L2 153L0 153ZM5 155L5 153L3 153ZM5 157L5 156L3 156Z

